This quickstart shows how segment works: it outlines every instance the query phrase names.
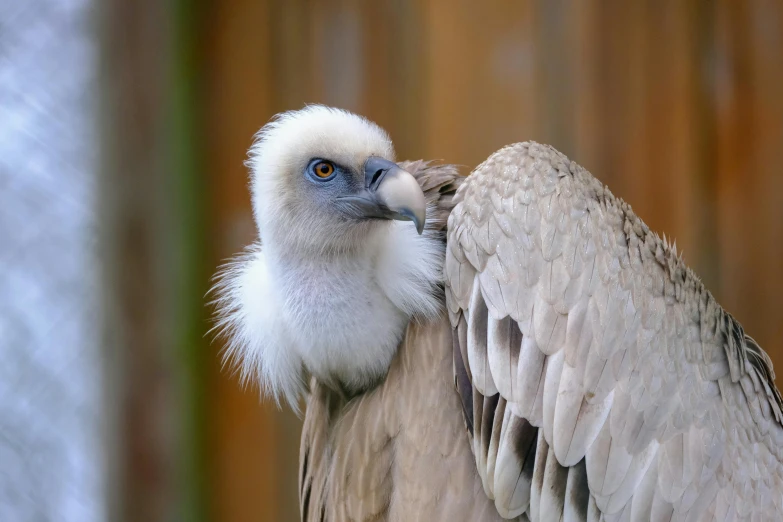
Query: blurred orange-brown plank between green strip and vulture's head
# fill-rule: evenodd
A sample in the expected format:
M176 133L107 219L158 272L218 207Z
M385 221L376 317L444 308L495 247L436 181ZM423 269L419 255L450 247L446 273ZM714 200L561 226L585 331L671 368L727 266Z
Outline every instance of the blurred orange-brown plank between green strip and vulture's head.
M295 21L291 15L296 7L230 0L213 2L207 16L205 143L214 266L256 237L243 161L253 135L288 92L278 90L276 82L301 84L299 49L293 42L277 46L283 42L275 40L297 37L286 25ZM281 14L275 8L291 11ZM279 24L282 32L276 29ZM221 366L220 343L213 346L208 414L211 518L295 520L298 423L290 412L262 404L256 389L241 388L236 376Z

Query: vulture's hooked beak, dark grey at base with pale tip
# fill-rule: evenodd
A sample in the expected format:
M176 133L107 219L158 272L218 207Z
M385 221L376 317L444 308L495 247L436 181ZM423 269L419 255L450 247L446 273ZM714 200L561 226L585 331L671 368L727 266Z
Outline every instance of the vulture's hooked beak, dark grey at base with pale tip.
M351 217L413 221L419 234L424 231L424 192L410 172L389 160L370 156L364 163L364 189L337 201Z

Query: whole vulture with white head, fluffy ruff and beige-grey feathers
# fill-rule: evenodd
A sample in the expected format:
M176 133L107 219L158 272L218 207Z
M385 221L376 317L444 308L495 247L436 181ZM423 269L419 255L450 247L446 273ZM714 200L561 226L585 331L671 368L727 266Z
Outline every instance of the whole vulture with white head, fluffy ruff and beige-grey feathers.
M247 165L259 237L216 327L245 381L304 404L302 520L783 520L769 357L563 154L461 177L315 105Z

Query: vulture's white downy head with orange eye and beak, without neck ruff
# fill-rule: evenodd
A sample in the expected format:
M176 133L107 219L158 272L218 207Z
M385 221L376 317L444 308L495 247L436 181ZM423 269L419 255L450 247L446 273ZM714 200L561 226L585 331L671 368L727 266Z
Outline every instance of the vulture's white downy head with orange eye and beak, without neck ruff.
M250 157L265 246L319 256L360 248L388 220L424 229L421 188L394 163L386 132L365 118L323 106L284 113L261 130Z

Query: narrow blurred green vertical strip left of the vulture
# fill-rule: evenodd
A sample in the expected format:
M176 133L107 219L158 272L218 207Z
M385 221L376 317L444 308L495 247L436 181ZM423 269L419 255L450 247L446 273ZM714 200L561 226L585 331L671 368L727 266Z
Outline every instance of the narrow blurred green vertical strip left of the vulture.
M209 267L205 262L206 229L202 119L200 105L203 3L173 3L173 27L168 34L171 64L165 113L165 230L169 299L166 322L178 364L175 379L179 395L177 485L181 501L173 518L197 522L207 519L205 384L211 358L204 339L207 312L203 296L208 290Z

